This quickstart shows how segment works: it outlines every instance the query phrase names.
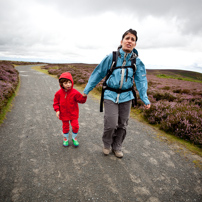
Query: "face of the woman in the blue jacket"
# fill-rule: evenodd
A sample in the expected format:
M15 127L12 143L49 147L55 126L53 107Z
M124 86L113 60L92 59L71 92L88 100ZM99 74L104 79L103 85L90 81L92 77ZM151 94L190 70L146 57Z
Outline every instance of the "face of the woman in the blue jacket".
M136 46L136 36L128 33L123 40L121 40L122 49L126 53L130 53Z

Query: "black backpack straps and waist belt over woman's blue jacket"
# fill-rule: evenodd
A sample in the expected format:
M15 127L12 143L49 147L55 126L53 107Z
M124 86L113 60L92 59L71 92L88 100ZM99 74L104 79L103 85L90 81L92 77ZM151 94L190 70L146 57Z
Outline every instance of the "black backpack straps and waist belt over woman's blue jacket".
M118 58L119 54L120 54L119 51L113 51L112 65L111 65L111 68L108 70L107 75L106 75L105 80L104 80L103 85L102 85L102 94L101 94L101 99L100 99L100 112L103 112L103 102L104 102L104 91L105 90L111 90L111 91L114 91L114 92L116 92L118 94L123 93L123 92L132 91L133 95L134 95L134 99L132 100L132 106L134 107L135 105L137 105L137 96L136 96L136 92L135 92L133 86L131 88L129 88L129 89L124 89L124 90L123 89L115 89L115 88L111 88L111 87L107 86L107 80L111 76L112 72L115 69L125 68L126 69L126 79L127 79L128 68L133 69L133 74L135 74L135 72L136 72L136 57L137 57L137 54L134 53L132 55L132 57L130 59L131 60L131 66L119 66L119 67L116 67L117 58Z

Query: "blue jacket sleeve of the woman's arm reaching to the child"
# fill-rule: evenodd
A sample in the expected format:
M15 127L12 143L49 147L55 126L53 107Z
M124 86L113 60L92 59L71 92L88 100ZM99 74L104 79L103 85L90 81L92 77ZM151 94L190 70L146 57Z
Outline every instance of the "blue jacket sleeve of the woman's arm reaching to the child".
M87 95L95 86L107 75L107 71L112 64L112 53L106 56L101 63L94 69L91 74L88 83L84 89L84 93Z

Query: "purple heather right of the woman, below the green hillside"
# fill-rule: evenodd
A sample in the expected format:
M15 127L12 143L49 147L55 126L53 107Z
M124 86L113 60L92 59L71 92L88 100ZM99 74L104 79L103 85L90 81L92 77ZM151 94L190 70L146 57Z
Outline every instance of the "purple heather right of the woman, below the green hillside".
M202 146L202 83L148 75L152 103L143 115L150 124ZM141 107L142 108L142 107Z

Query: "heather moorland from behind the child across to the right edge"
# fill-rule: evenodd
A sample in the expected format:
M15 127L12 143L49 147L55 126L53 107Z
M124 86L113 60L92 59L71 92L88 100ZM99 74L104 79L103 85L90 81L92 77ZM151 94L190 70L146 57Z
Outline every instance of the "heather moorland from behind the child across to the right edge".
M76 84L85 86L95 67L95 64L51 64L43 68L58 77L69 71ZM144 109L137 92L137 108L144 118L150 124L202 147L202 74L183 70L149 70L147 79L151 101L149 110ZM96 86L98 91L101 91L102 82Z

